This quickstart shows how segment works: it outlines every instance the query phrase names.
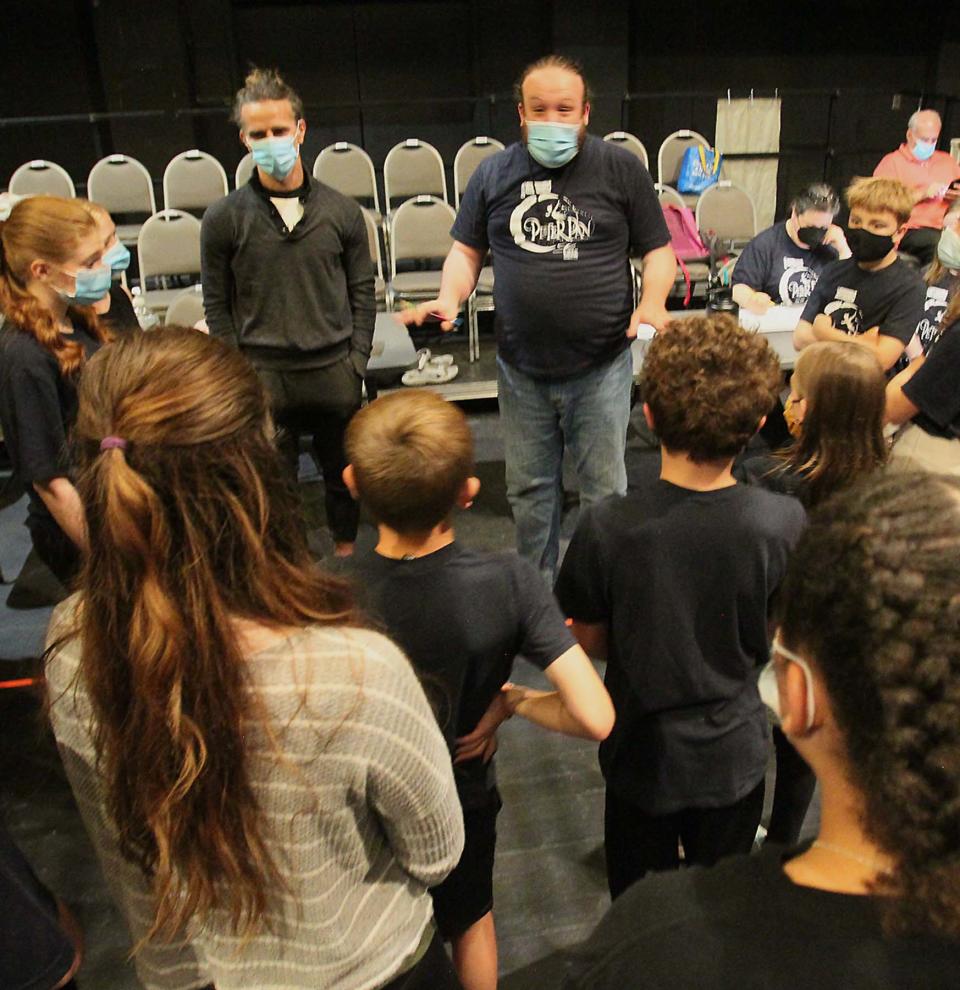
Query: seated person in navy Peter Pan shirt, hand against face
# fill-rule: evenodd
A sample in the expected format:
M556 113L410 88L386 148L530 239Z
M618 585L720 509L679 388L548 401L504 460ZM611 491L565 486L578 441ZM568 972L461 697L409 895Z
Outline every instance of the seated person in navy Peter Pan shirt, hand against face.
M832 186L815 182L790 204L790 216L757 234L733 270L733 301L762 316L771 306L800 306L820 272L849 258L843 231L833 222L840 199Z

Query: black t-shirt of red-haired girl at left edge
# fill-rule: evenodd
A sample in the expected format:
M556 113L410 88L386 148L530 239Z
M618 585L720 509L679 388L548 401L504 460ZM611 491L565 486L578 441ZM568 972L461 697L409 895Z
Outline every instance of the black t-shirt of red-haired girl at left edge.
M100 346L72 320L74 340L89 358ZM0 423L18 481L30 497L27 525L56 525L33 488L35 481L69 477L67 436L77 417L77 376L62 375L57 359L12 324L0 329Z

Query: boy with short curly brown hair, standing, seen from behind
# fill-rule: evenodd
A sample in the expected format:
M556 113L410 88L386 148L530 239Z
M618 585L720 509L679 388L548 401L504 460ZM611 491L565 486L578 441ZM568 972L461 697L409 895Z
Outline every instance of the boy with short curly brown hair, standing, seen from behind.
M769 732L754 674L767 609L805 522L738 485L734 458L780 383L764 338L730 317L674 321L647 349L644 415L660 477L581 511L556 593L607 659L617 718L600 746L612 897L650 870L749 852Z

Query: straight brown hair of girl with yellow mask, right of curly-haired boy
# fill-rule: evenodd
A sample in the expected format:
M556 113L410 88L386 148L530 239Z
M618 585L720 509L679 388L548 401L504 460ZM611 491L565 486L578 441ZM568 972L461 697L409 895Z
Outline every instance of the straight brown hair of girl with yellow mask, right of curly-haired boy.
M803 500L812 507L886 463L886 384L876 357L853 341L804 348L793 378L807 411L799 439L782 456L803 478Z

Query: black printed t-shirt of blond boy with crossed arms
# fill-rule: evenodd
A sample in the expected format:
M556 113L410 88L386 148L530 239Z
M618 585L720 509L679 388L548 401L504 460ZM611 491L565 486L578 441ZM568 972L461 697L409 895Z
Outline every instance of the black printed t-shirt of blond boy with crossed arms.
M825 313L838 330L851 336L879 327L883 336L906 346L917 329L925 295L923 280L899 258L875 272L847 258L823 270L800 318L813 323Z

